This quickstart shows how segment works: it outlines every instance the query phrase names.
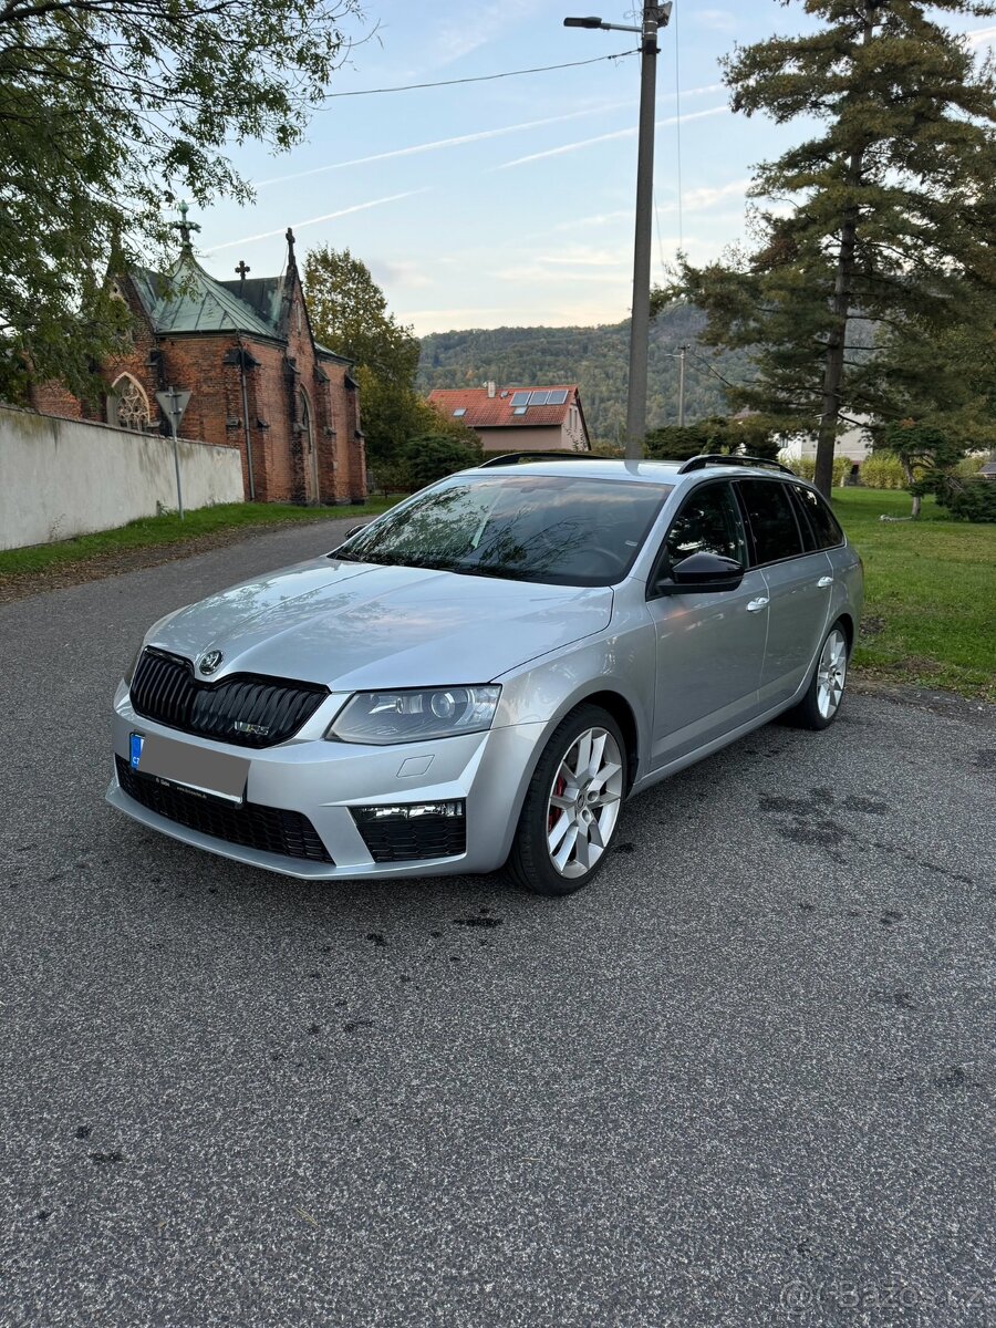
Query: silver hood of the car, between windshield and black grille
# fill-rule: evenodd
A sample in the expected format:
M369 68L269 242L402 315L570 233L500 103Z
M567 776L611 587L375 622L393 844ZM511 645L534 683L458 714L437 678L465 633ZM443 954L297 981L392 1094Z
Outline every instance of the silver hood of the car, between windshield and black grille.
M332 691L487 683L606 628L612 591L320 558L189 604L146 644L212 680L264 673Z

